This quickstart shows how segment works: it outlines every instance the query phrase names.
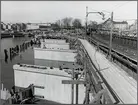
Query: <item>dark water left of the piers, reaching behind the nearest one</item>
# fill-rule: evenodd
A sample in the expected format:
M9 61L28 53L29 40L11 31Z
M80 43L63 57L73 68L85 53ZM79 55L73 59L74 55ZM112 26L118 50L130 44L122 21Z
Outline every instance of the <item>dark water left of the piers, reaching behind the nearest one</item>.
M21 45L25 41L30 41L32 38L22 37L22 38L4 38L1 39L1 81L4 84L4 87L7 89L11 89L14 85L14 71L12 69L13 65L16 63L24 63L24 64L36 64L42 66L53 66L53 67L66 67L73 68L72 62L61 62L61 61L50 61L50 60L39 60L34 59L34 52L31 47L29 47L25 52L22 52L22 56L16 56L12 61L10 60L10 56L8 57L8 62L5 62L4 49L8 50L9 48L15 47L16 45Z

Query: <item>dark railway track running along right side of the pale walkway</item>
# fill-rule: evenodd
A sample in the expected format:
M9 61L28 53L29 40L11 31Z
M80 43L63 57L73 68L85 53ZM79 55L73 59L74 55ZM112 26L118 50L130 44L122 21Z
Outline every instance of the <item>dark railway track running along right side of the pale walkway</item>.
M76 38L76 37L73 36L72 38ZM78 36L78 38L83 39L84 37ZM89 37L86 37L86 40L88 40L95 47L99 47L99 49L108 56L109 47L107 45L102 44L102 42L97 42L94 39L90 39ZM126 56L125 54L122 54L114 49L112 49L111 55L112 55L112 61L120 63L121 65L123 65L123 66L127 67L129 70L131 70L133 73L137 74L137 61L136 60L134 60L134 59ZM135 77L135 79L136 78L137 77Z

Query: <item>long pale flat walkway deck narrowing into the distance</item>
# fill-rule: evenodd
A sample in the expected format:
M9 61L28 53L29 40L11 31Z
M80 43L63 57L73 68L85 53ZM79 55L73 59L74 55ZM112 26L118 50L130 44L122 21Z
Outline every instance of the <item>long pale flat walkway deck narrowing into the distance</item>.
M122 68L106 59L106 56L88 41L79 39L88 52L94 65L111 86L123 104L137 104L137 81L130 77ZM106 68L106 69L105 69Z

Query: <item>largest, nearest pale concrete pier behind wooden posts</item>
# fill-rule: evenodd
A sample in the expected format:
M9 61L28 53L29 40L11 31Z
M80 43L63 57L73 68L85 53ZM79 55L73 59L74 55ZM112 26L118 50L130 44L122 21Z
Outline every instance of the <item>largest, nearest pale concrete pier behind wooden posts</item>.
M42 86L44 89L35 88L35 95L44 96L44 99L46 100L62 104L71 104L71 85L62 84L62 80L70 80L71 75L64 70L59 70L59 68L50 69L49 67L45 68L44 66L36 65L14 65L13 69L16 87L26 88L30 84ZM74 97L76 93L75 91ZM85 87L84 85L79 85L79 104L83 103L84 97Z

